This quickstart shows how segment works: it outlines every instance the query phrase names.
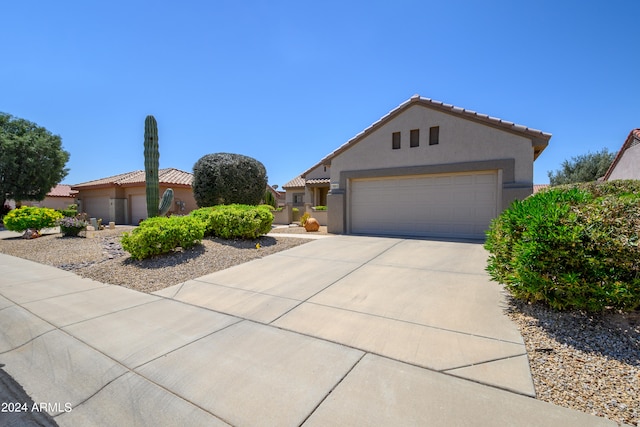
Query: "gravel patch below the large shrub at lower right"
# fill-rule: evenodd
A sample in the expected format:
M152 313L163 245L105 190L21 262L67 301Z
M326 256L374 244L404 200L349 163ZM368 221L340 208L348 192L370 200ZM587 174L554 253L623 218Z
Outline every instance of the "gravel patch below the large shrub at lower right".
M511 300L537 398L640 426L640 312L555 312Z

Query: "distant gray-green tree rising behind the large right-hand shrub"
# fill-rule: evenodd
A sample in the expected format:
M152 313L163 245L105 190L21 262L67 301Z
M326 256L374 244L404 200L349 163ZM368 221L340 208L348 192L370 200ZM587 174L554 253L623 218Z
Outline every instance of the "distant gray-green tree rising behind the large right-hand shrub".
M562 168L549 171L551 185L573 184L576 182L590 182L604 176L611 162L615 158L606 148L596 153L587 153L572 157L562 162Z

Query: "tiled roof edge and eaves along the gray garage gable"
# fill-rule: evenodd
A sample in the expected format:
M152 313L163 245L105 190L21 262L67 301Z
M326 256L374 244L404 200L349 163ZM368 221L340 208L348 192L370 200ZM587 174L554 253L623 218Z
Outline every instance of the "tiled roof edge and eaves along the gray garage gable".
M304 173L302 173L302 176L305 176L306 174L310 173L313 169L315 169L321 164L331 164L331 159L333 159L335 156L348 150L349 148L351 148L352 145L356 144L361 139L363 139L364 137L366 137L376 129L380 128L389 120L396 117L397 115L402 113L404 110L408 109L413 105L422 105L427 108L431 108L431 109L438 110L448 114L461 116L468 120L494 126L508 132L516 133L518 135L523 135L526 138L531 139L531 142L533 143L534 160L538 158L540 153L542 153L542 151L547 147L547 145L549 144L549 139L551 139L550 133L543 132L538 129L529 128L523 125L509 122L507 120L499 119L497 117L491 117L487 114L481 114L472 110L456 107L455 105L445 104L444 102L435 101L431 98L425 98L420 95L413 95L410 99L408 99L407 101L403 102L402 104L400 104L399 106L391 110L389 113L384 115L382 118L380 118L378 121L373 123L371 126L369 126L365 130L363 130L362 132L360 132L359 134L351 138L349 141L342 144L332 153L330 153L329 155L324 157L322 160L320 160L320 162L313 165L310 169L306 170Z

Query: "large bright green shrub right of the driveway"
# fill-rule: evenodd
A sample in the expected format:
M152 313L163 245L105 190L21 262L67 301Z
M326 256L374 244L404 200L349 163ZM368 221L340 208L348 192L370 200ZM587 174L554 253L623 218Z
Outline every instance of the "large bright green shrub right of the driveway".
M640 307L640 181L551 187L487 232L487 271L514 297L558 309Z

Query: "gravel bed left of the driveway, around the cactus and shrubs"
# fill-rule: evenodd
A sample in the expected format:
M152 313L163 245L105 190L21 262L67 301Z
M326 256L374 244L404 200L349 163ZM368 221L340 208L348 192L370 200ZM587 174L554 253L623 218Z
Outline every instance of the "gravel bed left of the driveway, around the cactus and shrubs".
M286 234L256 240L205 238L193 248L136 261L120 246L122 232L131 229L88 231L87 237L47 234L31 240L0 239L0 252L73 271L102 283L155 292L310 241Z

